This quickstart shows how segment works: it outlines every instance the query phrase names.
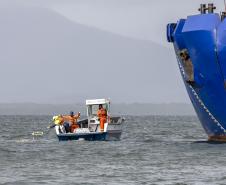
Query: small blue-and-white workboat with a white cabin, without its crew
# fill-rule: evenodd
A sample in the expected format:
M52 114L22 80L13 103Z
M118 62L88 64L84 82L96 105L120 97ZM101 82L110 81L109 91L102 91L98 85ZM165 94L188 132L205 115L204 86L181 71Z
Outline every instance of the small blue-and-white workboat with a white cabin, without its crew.
M104 131L100 131L100 121L97 116L99 105L107 111L107 121L104 123ZM74 133L60 131L60 127L55 127L57 137L60 141L67 140L89 140L89 141L109 141L120 140L122 125L125 121L122 117L112 117L110 115L110 100L93 99L86 100L87 119L78 121L79 128Z

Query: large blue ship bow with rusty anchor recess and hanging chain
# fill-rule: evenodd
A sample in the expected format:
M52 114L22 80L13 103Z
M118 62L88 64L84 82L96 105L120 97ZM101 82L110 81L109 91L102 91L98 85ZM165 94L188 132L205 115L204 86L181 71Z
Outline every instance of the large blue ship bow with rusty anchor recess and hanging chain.
M209 140L225 142L226 19L215 13L188 16L168 24L167 38Z

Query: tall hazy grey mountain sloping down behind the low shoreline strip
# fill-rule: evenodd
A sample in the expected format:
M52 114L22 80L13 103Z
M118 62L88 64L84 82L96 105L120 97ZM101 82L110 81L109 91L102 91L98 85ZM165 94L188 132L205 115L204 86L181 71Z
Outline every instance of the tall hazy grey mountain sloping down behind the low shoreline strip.
M0 102L184 101L169 49L76 24L49 9L0 5Z

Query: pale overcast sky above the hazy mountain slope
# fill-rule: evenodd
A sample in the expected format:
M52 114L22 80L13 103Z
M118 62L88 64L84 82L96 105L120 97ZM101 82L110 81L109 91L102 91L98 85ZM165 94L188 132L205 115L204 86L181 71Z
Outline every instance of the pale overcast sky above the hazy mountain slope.
M212 1L213 2L213 1ZM221 11L223 0L214 3ZM206 0L79 0L53 3L52 8L76 22L169 46L165 26L178 18L198 13Z

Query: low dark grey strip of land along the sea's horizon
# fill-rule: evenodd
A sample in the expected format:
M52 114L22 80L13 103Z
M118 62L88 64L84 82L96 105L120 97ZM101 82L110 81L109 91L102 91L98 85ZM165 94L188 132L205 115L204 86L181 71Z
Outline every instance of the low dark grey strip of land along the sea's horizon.
M56 115L80 111L86 115L83 104L0 104L0 115ZM113 115L195 115L190 104L114 104Z

